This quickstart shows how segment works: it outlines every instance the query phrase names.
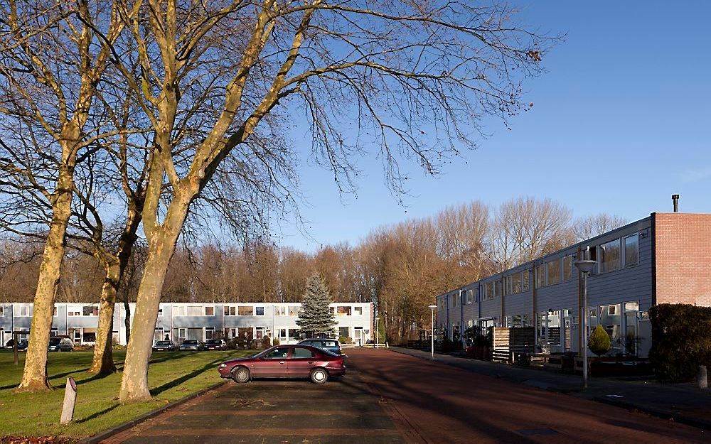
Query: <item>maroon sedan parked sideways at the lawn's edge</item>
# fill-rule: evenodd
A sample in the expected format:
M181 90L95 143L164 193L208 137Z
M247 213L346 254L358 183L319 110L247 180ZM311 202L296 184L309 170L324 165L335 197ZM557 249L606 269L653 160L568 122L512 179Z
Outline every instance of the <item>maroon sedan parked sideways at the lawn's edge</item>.
M309 378L324 384L346 374L343 357L307 345L276 345L252 357L230 359L218 367L220 377L235 382L252 378Z

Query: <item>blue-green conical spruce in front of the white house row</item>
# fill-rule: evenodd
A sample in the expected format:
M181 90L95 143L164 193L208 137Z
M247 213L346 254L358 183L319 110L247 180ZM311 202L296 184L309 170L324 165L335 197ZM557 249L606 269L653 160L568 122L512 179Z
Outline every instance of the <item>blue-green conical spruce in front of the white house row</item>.
M296 325L307 335L333 336L338 323L331 312L332 302L324 278L318 273L312 275L306 281L306 293L301 300L301 311Z

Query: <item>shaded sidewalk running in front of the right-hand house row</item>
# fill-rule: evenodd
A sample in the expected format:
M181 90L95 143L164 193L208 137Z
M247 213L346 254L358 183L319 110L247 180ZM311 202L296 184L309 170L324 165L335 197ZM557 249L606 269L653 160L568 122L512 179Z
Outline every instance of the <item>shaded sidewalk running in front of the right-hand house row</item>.
M390 350L432 359L429 352L422 350L402 347L390 347ZM672 418L689 426L711 430L711 389L702 391L693 384L659 384L653 381L590 378L587 390L583 390L582 377L574 374L514 367L438 353L434 354L434 361L489 377L631 408L661 418Z

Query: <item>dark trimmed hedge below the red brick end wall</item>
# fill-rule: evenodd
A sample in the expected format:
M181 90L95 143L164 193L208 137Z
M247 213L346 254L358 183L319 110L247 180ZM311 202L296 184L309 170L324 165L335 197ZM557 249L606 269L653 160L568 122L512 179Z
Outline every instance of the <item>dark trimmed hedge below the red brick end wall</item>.
M698 366L711 369L711 308L660 304L649 310L652 349L649 360L657 377L689 381Z

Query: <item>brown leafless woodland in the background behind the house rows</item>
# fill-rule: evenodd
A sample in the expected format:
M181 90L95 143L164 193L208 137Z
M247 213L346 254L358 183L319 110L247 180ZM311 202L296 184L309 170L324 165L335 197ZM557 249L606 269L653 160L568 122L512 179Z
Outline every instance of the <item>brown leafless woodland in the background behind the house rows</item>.
M574 220L557 202L519 197L493 210L480 202L447 207L432 217L376 229L355 246L336 244L314 254L263 242L239 248L215 243L182 247L171 259L161 300L294 302L304 295L307 278L318 271L334 300L373 302L387 318L388 339L398 341L412 325L427 326L427 305L437 294L624 223L606 214ZM15 258L14 271L0 274L0 298L8 298L10 286L23 281L18 289L25 296L14 300L31 300L38 259L31 251L24 254L8 256ZM24 257L29 261L22 261ZM70 278L63 280L58 300L95 302L100 264L78 254L65 262ZM139 261L132 264L140 266ZM134 265L127 270L132 276L141 274ZM137 283L127 281L124 288L119 300L135 300Z

